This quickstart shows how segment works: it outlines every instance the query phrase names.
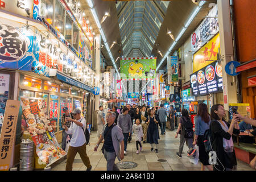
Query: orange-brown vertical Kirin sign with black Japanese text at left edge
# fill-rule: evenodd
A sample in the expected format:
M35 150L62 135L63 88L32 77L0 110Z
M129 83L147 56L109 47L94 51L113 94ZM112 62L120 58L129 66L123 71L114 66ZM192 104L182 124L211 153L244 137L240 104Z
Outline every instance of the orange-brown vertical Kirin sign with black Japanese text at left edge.
M20 101L7 100L5 117L0 135L0 171L10 168L13 147L15 143L16 125L19 114Z

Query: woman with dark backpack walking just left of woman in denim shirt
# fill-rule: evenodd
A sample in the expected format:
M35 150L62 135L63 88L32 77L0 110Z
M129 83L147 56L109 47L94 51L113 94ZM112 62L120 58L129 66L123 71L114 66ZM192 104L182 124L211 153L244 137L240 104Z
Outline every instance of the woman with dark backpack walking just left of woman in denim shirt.
M189 118L189 115L188 115L188 110L187 109L181 110L181 114L182 114L182 117L180 117L180 119L179 119L179 126L178 126L178 129L177 129L177 133L175 135L175 138L177 138L177 135L180 134L179 152L176 153L177 157L180 158L180 159L182 158L181 154L182 154L182 151L183 151L184 143L186 141L188 143L189 150L193 149L193 145L192 145L193 138L185 138L185 122L190 122L192 124L191 119ZM191 126L193 128L193 124Z

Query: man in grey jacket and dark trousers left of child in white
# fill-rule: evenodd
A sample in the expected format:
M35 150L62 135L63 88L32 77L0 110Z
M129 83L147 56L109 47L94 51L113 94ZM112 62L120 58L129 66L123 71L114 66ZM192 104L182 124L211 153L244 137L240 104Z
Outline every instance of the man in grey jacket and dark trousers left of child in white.
M133 130L133 125L131 125L131 117L128 114L127 107L123 107L123 114L119 114L119 117L117 118L117 125L121 127L123 132L123 142L125 144L124 154L126 155L128 137L131 136L131 131Z

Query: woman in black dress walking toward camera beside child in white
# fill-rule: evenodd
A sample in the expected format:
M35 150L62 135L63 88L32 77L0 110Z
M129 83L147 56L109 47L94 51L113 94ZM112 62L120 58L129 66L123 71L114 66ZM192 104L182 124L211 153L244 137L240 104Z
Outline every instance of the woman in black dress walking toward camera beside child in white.
M159 118L157 115L155 115L154 109L150 109L148 111L150 113L146 119L146 123L148 124L148 129L147 129L147 143L150 143L151 145L151 151L154 150L153 143L155 143L155 152L158 152L158 140L160 139L159 137L159 132L158 132L158 123Z

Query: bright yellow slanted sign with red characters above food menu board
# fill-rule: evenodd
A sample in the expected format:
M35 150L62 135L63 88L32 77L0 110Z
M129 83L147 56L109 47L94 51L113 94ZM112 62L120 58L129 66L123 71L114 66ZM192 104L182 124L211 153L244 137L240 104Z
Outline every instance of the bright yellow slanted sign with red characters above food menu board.
M206 67L208 64L217 60L218 49L220 48L220 34L214 36L210 42L205 44L204 47L199 49L193 56L193 73L199 71L199 69ZM213 60L213 61L207 61Z

